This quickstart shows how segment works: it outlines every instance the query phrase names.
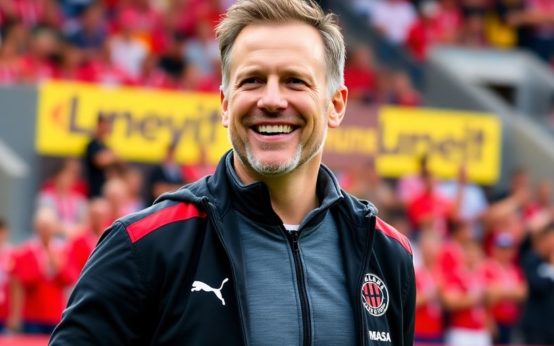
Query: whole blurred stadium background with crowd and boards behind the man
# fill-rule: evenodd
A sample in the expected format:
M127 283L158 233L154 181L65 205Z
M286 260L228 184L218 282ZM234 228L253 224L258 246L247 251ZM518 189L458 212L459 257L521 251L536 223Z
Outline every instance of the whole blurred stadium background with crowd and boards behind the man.
M45 344L102 231L230 148L232 3L0 0L0 345ZM350 95L324 162L412 241L419 344L554 345L554 1L320 3Z

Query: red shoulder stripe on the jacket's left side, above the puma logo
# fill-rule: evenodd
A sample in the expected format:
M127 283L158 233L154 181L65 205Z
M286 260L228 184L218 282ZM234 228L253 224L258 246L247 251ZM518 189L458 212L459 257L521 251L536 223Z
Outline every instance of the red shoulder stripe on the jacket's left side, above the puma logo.
M172 222L205 216L206 213L198 210L194 204L179 203L130 224L127 226L127 233L131 238L131 242L135 243L155 230Z

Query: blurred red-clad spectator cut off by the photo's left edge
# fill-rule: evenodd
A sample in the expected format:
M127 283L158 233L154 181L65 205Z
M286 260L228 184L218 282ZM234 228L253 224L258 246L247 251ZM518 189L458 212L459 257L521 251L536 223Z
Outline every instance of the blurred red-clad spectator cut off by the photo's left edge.
M9 273L13 267L13 248L8 243L8 224L0 217L0 333L4 332L10 311Z

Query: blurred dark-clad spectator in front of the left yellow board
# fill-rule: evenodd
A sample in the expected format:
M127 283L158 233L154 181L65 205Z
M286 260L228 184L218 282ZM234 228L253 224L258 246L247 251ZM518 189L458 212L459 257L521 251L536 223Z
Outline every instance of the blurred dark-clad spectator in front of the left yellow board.
M99 116L94 137L87 144L84 158L90 198L100 196L108 170L120 163L117 155L106 145L110 131L110 121Z

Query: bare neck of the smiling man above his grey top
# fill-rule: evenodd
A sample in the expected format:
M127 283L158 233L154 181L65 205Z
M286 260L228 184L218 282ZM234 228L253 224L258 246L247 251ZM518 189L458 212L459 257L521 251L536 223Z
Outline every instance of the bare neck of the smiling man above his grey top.
M319 205L316 194L319 160L303 164L294 172L279 177L254 177L235 157L235 171L244 184L262 181L269 189L271 206L285 224L298 225Z

